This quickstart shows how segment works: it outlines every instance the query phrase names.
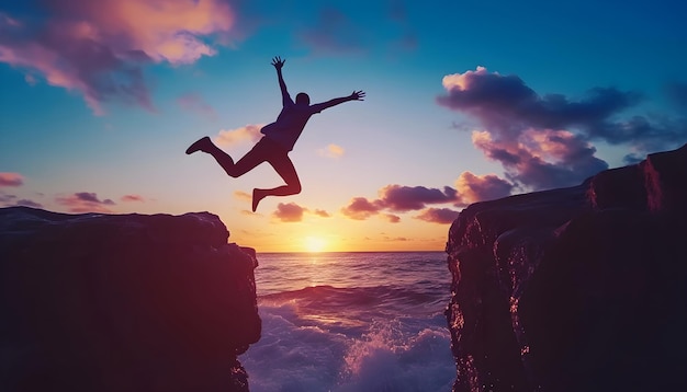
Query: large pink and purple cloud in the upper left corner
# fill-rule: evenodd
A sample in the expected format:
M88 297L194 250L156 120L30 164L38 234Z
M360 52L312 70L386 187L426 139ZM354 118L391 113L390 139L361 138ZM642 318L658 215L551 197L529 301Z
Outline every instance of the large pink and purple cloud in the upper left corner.
M150 62L191 64L226 41L236 15L222 0L50 0L43 19L0 14L0 61L77 91L94 114L121 99L154 109L143 78Z

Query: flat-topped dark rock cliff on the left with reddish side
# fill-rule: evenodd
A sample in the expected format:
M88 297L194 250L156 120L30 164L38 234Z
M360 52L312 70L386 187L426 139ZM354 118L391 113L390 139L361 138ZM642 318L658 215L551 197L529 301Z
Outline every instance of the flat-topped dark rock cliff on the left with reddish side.
M0 209L1 391L247 391L255 252L207 212Z

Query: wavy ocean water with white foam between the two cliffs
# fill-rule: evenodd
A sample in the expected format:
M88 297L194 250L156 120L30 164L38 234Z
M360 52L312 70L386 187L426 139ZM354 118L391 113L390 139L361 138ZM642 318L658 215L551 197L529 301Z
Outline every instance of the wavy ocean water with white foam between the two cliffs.
M443 252L258 254L252 392L450 391Z

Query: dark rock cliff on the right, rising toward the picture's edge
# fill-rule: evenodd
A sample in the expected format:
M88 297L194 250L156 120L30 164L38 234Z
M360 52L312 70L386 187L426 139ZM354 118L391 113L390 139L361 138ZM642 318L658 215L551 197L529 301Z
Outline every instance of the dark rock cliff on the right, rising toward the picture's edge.
M454 391L687 390L687 146L453 222Z

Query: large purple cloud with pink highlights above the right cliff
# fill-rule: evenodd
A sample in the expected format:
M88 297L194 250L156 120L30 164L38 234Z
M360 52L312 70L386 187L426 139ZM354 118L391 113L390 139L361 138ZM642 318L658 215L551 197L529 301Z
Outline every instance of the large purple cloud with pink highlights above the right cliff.
M523 189L577 184L608 169L595 157L589 140L616 143L627 135L640 136L618 131L620 123L613 120L639 102L640 94L634 92L597 88L577 101L562 94L540 96L517 76L488 72L484 67L446 76L442 83L447 94L437 102L480 123L483 130L473 131L473 145L499 162L509 182ZM491 183L504 192L507 187L494 178Z

